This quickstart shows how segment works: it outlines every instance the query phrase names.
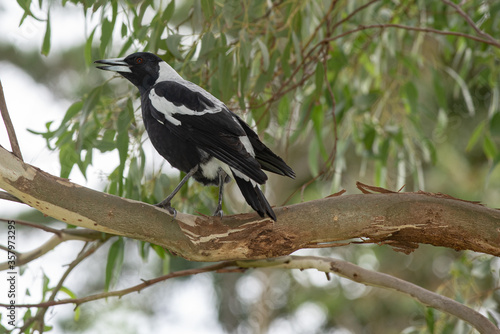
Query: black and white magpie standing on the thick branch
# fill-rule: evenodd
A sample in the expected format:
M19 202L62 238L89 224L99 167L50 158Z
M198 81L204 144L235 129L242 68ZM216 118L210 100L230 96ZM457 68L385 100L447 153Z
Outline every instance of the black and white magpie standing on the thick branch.
M187 173L175 190L157 205L175 214L171 200L193 177L219 186L215 215L222 216L224 183L234 177L247 203L276 221L259 185L262 170L295 177L293 170L224 103L184 80L160 57L138 52L125 58L97 60L97 68L118 72L139 88L144 125L155 149L175 168Z

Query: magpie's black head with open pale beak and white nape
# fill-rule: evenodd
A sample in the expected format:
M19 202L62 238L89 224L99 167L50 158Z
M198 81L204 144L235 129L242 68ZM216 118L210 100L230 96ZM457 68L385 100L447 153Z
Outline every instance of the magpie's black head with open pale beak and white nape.
M136 52L125 58L96 60L102 64L98 69L118 72L142 92L151 88L159 79L175 80L181 78L175 70L160 57L149 52Z

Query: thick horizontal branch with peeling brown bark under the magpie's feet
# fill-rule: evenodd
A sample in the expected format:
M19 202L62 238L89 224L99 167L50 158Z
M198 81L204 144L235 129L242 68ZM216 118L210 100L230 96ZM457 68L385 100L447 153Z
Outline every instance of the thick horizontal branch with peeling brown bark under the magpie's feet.
M263 259L362 238L411 252L419 243L500 256L500 211L424 193L358 194L221 218L178 213L47 174L0 147L0 188L63 222L148 241L196 261Z

